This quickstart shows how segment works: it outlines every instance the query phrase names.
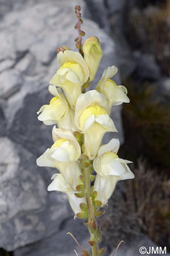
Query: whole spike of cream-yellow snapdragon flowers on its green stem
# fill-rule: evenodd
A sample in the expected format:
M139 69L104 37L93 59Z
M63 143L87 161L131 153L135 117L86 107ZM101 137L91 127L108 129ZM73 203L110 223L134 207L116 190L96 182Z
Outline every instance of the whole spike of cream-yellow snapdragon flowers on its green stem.
M80 21L80 15L77 17ZM101 145L106 132L118 132L110 118L112 106L129 102L127 89L110 80L118 69L108 67L96 89L85 92L95 78L102 54L95 36L84 41L80 52L59 47L59 69L49 85L53 97L37 112L44 124L58 126L52 129L54 144L37 159L37 165L58 169L48 190L66 193L75 217L88 219L92 246L99 240L95 217L103 214L100 208L107 204L118 180L134 178L127 165L130 161L117 155L119 140Z

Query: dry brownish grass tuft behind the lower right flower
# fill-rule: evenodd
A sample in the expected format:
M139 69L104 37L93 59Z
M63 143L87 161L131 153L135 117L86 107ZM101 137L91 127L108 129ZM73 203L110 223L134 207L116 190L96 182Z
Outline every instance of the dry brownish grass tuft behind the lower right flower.
M168 250L170 180L165 174L148 169L141 161L134 173L135 179L117 188L109 201L102 223L105 236L116 245L143 232Z

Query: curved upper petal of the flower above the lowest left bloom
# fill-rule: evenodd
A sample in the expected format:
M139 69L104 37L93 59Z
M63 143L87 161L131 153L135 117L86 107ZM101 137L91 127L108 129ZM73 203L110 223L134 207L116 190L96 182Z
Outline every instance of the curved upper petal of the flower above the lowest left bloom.
M81 154L80 145L70 131L57 129L56 126L54 126L52 129L52 139L54 140L54 142L57 139L67 139L71 141L71 143L75 146L75 149L76 149L74 161L80 158L80 154Z

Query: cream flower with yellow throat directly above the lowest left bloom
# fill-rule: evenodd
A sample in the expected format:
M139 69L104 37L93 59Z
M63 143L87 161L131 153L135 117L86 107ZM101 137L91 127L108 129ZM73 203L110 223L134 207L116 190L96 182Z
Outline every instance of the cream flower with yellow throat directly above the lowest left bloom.
M52 138L54 144L36 160L36 163L38 166L57 168L76 191L76 186L82 184L81 167L77 161L81 154L80 145L71 132L56 129L56 126L52 129Z

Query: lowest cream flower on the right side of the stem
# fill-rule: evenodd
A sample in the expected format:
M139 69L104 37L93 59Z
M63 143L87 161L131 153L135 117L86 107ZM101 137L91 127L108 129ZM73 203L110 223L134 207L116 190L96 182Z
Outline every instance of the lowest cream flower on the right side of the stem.
M127 165L132 162L119 158L118 149L119 140L111 139L109 143L99 147L98 155L93 162L97 173L93 191L97 191L95 200L101 201L101 206L107 204L118 180L134 178L134 174Z

